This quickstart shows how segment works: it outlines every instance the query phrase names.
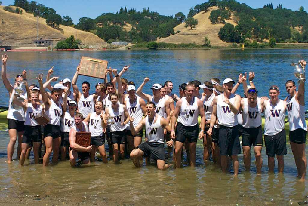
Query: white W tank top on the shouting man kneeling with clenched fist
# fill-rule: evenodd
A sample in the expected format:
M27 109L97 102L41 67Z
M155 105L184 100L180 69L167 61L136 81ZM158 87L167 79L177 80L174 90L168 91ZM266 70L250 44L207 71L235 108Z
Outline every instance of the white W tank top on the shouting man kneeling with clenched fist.
M145 133L147 135L148 142L157 143L157 144L164 143L164 127L161 127L160 125L160 118L162 117L160 115L157 115L156 122L151 124L149 123L149 117L148 116L146 117Z

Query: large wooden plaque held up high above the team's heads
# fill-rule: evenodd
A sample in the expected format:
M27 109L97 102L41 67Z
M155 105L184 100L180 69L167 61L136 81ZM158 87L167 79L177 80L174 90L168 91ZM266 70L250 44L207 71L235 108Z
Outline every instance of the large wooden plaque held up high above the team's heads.
M94 59L91 57L81 57L79 75L105 79L108 61L103 59Z

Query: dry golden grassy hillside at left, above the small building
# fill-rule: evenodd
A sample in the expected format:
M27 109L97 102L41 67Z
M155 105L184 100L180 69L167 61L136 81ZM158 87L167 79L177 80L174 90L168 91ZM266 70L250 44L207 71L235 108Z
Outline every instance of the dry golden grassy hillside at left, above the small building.
M34 45L33 40L37 38L37 17L26 13L22 9L22 14L15 14L3 10L0 6L0 41L2 45L30 46ZM14 9L15 6L12 6ZM57 41L66 39L71 35L79 38L82 45L95 46L97 48L105 45L105 42L95 34L77 30L70 26L60 25L60 29L54 29L46 24L46 19L39 18L39 39L53 39L54 46Z

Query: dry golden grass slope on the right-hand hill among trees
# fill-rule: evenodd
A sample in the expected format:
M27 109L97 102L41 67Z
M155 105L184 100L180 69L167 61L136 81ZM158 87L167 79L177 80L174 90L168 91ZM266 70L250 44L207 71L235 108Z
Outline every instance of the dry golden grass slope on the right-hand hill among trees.
M193 43L203 44L205 37L209 38L211 41L211 46L228 46L230 43L223 42L218 37L218 32L224 24L212 24L209 20L209 16L212 10L217 10L217 6L209 8L209 11L200 13L193 16L198 20L198 25L192 30L190 27L185 28L185 23L181 23L173 28L174 32L180 31L178 34L171 35L166 38L160 38L156 42L165 42L165 43ZM231 17L232 18L232 17ZM233 20L226 20L225 22L236 25Z

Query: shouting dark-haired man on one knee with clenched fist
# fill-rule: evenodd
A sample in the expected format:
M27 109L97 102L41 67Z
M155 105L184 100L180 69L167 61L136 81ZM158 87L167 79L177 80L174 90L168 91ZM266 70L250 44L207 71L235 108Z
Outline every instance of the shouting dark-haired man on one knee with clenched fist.
M168 132L171 131L169 123L155 112L155 104L153 102L147 103L147 116L142 119L137 127L133 126L134 118L131 119L131 132L135 135L143 127L145 127L145 132L147 134L148 140L136 149L134 149L130 157L137 168L140 167L139 157L148 157L151 155L154 160L157 160L157 168L164 170L170 165L165 164L165 153L164 153L164 128ZM172 146L173 140L167 142L167 145ZM169 146L169 147L170 147Z

